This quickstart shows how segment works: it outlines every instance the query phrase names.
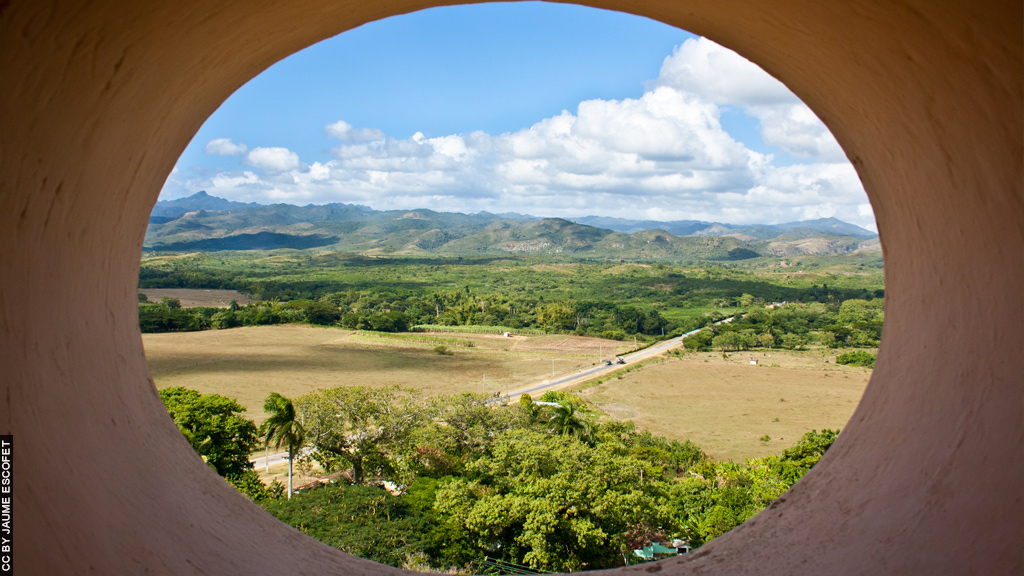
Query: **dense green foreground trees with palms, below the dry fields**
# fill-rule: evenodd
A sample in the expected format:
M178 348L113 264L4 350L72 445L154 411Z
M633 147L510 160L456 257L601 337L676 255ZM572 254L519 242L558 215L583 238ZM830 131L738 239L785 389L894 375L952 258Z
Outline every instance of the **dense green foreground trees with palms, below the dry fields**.
M259 429L217 395L161 396L204 460L267 511L331 546L419 570L481 572L484 558L595 570L642 562L633 550L651 542L698 547L779 497L839 434L809 431L778 455L736 463L602 421L566 393L500 405L337 387L294 404L278 397L287 406L268 399L273 423ZM264 444L335 480L291 497L264 486L238 450Z

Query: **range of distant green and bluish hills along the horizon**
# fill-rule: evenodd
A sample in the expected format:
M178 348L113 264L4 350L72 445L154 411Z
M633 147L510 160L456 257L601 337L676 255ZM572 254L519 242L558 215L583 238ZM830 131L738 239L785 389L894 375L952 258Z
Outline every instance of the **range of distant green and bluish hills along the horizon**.
M341 203L261 205L205 192L158 202L144 246L170 252L327 248L362 254L571 254L643 260L739 260L879 249L873 233L836 218L764 225L604 216L572 221L515 213L373 210Z

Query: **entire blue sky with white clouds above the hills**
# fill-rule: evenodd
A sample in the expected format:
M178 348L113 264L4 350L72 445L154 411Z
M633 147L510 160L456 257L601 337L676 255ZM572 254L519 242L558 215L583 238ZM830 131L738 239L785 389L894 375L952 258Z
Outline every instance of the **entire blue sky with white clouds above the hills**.
M827 130L740 56L617 12L537 2L368 24L217 110L162 199L874 230Z

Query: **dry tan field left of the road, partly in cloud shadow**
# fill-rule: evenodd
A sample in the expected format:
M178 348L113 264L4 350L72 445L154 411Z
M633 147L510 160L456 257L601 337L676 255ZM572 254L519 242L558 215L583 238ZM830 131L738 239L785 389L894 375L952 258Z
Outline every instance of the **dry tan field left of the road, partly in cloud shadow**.
M417 336L430 336L418 334ZM339 385L398 385L427 396L508 392L597 362L601 349L621 354L632 342L568 336L438 334L473 347L373 337L337 328L285 325L143 334L158 388L185 386L238 399L257 423L271 392L295 398Z

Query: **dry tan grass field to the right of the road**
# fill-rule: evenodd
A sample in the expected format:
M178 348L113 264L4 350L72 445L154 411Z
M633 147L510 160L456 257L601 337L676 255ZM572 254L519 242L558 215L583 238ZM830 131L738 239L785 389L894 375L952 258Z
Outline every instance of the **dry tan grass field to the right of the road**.
M581 393L611 417L742 460L778 453L807 430L846 426L870 371L835 362L816 351L693 354Z

